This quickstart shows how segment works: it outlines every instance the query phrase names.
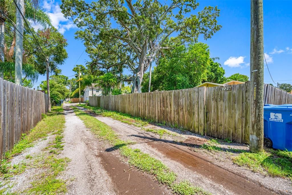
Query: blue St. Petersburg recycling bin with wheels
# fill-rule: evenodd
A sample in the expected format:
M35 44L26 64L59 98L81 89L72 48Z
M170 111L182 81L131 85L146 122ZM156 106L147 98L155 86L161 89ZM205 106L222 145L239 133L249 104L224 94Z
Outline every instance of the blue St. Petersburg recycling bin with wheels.
M292 151L292 104L264 105L264 145Z

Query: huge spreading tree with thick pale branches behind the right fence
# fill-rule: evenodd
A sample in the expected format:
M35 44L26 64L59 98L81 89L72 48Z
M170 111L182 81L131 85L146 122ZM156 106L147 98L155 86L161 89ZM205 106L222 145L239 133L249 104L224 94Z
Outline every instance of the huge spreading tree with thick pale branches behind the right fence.
M210 38L221 26L217 7L205 7L193 14L195 0L62 0L61 9L82 30L76 37L84 41L92 66L109 69L125 64L133 72L132 93L140 93L141 82L150 63L171 36L179 45L196 42L199 35Z

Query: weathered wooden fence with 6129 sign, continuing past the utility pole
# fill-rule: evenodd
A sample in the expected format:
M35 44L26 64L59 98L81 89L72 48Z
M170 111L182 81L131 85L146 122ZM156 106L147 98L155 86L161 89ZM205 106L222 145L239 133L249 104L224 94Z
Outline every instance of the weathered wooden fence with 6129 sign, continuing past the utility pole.
M215 138L249 143L250 83L127 95L90 96L89 105L190 130ZM221 90L220 90L221 89ZM265 102L292 103L292 94L265 85ZM285 100L284 100L285 97Z

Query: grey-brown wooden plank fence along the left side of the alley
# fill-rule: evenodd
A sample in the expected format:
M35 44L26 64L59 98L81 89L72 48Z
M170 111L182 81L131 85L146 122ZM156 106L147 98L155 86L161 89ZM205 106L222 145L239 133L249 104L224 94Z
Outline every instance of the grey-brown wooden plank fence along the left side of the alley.
M47 94L0 78L0 159L46 112Z

